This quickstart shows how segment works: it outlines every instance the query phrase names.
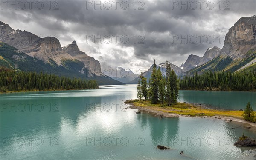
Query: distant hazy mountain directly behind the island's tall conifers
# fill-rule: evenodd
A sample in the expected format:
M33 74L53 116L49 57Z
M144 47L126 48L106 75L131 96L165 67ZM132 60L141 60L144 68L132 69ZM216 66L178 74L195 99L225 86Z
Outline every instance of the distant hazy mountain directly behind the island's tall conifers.
M183 74L184 74L183 69L181 69L180 67L170 63L169 61L165 61L163 63L159 63L159 65L157 65L157 69L160 67L160 69L163 72L163 74L166 74L166 63L170 64L171 69L173 69L175 71L177 76L183 76ZM153 66L154 66L154 64L152 64L152 66L148 69L148 71L145 71L142 74L145 78L147 78L147 82L149 82L149 78L151 77L151 74L153 72ZM129 82L128 84L138 84L138 80L139 79L140 79L140 77L137 77L134 80L132 80L131 82Z

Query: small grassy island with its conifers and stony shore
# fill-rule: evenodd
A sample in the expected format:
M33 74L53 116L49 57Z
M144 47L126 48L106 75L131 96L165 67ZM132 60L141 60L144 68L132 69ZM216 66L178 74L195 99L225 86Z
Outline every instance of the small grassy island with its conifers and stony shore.
M217 74L217 73L216 73ZM183 80L184 83L184 80ZM211 83L209 83L211 84ZM157 69L154 62L153 71L147 83L147 79L140 75L137 85L137 99L126 100L125 103L131 105L130 108L154 112L160 117L177 117L183 116L209 116L215 118L231 117L247 122L256 123L256 111L248 102L244 111L242 110L217 110L211 106L203 104L190 104L177 102L179 98L180 80L175 71L166 63L166 74ZM231 120L227 120L230 122Z

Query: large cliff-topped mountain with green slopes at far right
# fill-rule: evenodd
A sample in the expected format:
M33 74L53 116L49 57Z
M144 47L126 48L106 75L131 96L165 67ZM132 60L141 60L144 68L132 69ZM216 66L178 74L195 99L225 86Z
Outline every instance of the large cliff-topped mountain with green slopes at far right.
M226 34L224 46L217 57L189 71L237 71L256 61L256 16L242 17Z

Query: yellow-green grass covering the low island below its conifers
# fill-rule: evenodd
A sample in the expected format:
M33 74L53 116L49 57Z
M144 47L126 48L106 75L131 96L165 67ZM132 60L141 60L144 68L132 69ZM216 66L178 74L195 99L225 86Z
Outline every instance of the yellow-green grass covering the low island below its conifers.
M149 100L126 100L125 103L139 106L145 109L155 111L163 111L164 113L176 113L186 116L224 116L234 117L243 120L242 114L244 111L218 110L211 109L204 105L195 105L190 103L176 103L172 106L166 104L150 104ZM255 111L254 111L255 114ZM256 120L255 120L256 121Z

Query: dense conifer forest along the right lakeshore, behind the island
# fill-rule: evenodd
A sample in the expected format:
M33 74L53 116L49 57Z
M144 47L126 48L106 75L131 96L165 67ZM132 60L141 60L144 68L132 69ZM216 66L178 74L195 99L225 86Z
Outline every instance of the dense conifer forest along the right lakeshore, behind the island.
M201 75L195 72L180 80L180 89L256 91L256 71L204 71Z

